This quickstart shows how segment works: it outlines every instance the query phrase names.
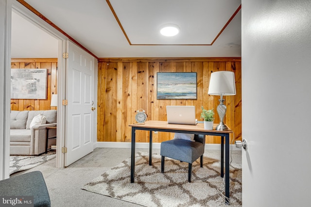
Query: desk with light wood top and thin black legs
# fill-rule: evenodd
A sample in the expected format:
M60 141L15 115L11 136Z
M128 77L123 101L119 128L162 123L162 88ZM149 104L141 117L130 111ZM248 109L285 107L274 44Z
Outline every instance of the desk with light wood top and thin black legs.
M217 124L214 124L214 128ZM216 131L204 129L203 123L197 125L175 125L168 124L167 121L146 121L145 124L131 124L132 127L132 149L131 149L131 183L134 183L135 176L135 131L147 130L150 133L149 140L149 165L152 165L152 132L178 132L189 134L205 134L212 136L221 136L221 171L220 176L224 177L224 138L225 138L225 196L229 198L229 135L232 133L231 129L228 131ZM225 200L226 204L229 201Z

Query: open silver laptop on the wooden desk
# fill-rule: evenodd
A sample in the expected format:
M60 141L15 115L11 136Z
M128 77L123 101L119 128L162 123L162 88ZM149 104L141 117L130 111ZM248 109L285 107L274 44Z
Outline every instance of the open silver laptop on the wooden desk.
M166 106L168 124L196 125L195 106Z

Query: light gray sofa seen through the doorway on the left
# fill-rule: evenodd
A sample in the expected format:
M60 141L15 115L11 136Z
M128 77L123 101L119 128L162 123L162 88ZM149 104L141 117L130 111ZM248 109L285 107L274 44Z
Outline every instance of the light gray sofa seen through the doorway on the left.
M46 124L30 124L34 117L42 114L46 117ZM11 111L10 155L39 155L46 149L46 127L56 126L56 110L45 111ZM56 130L49 130L48 137L56 136ZM56 144L50 139L48 146Z

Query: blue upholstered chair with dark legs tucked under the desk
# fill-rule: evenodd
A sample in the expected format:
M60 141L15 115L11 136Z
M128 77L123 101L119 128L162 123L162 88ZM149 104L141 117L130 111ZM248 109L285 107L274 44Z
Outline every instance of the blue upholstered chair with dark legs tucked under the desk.
M188 181L191 182L192 163L200 158L203 167L205 135L194 135L195 142L188 140L169 140L161 143L161 172L164 173L165 157L189 163Z

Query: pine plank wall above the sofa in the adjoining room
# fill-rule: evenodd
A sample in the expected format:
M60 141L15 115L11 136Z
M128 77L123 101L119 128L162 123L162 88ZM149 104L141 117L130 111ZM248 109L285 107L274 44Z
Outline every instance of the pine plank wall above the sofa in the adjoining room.
M57 58L11 59L11 68L48 69L47 99L11 99L11 110L56 110L56 107L50 105L52 94L57 94Z

